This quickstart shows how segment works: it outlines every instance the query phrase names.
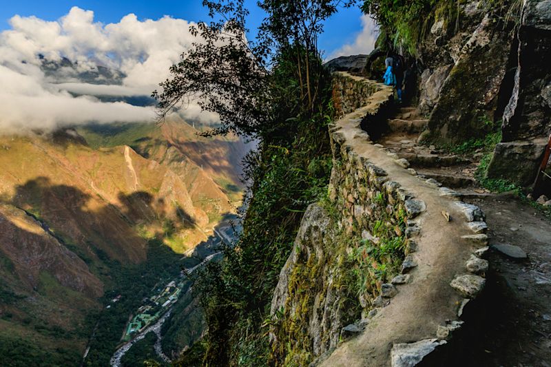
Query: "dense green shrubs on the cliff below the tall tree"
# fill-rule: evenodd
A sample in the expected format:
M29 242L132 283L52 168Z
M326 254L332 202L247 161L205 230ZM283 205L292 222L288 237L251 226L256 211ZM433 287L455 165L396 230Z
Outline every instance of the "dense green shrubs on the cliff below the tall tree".
M225 249L222 264L209 264L194 287L209 326L208 365L267 364L268 339L260 326L302 213L326 193L331 172L326 125L315 118L298 124L291 142L249 156L255 184L243 233ZM224 351L228 355L220 355Z

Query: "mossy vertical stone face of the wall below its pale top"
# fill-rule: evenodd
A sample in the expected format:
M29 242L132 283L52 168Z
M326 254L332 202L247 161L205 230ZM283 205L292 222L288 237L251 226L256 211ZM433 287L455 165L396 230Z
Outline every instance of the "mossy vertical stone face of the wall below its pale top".
M335 107L341 114L363 104L368 106L366 116L373 117L391 101L391 88L373 81L346 74L335 74L334 81ZM382 95L380 101L369 103L377 92ZM344 326L362 315L365 318L384 302L382 289L391 297L391 280L408 253L407 194L383 169L344 147L344 136L333 132L335 128L330 127L329 198L310 205L304 213L271 304L273 350L285 366L304 366L335 348ZM375 258L362 253L368 251L368 243L392 248L384 259ZM360 275L367 264L372 271Z

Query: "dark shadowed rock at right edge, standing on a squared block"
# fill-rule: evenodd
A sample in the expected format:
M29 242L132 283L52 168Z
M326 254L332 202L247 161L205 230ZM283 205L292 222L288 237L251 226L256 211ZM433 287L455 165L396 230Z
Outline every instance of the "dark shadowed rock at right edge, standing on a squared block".
M503 141L488 176L532 185L551 132L551 1L523 3L518 31L518 65L512 96L503 114Z

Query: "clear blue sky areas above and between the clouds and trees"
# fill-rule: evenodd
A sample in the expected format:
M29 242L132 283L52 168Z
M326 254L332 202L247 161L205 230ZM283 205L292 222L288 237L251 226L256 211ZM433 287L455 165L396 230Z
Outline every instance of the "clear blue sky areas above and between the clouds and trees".
M94 11L94 20L101 23L116 23L126 14L134 13L140 20L159 19L164 15L187 21L207 19L202 0L0 0L0 31L10 29L9 19L16 14L21 17L35 16L46 21L55 21L69 12L73 6ZM251 11L251 25L262 19L256 0L247 0ZM320 48L329 55L342 45L353 43L362 31L362 13L358 8L342 9L326 23L320 37Z

